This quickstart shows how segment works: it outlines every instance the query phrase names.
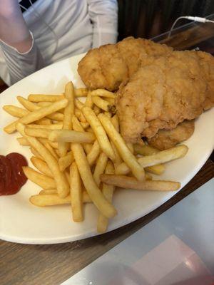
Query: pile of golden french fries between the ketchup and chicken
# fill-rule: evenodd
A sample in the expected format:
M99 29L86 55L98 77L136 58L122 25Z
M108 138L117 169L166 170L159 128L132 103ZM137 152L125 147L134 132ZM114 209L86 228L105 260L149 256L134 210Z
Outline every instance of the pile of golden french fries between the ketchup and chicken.
M71 204L74 222L82 222L83 204L98 209L98 232L106 232L108 219L116 214L116 187L141 191L175 191L179 182L153 180L161 175L163 163L183 157L185 145L158 151L142 142L126 143L116 115L115 93L74 88L66 84L61 95L18 96L24 107L5 105L17 119L6 125L6 133L18 131L20 145L29 146L36 168L23 167L26 177L39 185L30 197L36 206ZM83 103L80 97L85 97Z

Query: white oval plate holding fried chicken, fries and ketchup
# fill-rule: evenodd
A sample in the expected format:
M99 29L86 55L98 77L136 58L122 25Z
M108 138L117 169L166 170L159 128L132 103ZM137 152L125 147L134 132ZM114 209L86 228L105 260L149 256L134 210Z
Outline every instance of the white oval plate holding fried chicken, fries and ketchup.
M27 97L29 93L62 93L68 81L76 87L83 83L77 73L77 64L83 55L54 63L41 71L24 78L0 95L0 154L19 152L31 165L29 147L21 147L17 133L7 135L3 128L14 118L2 110L3 105L19 105L17 95ZM158 179L187 184L200 170L210 156L214 146L213 132L214 108L203 113L195 122L195 133L185 142L188 154L180 160L169 162L164 175ZM157 178L156 178L157 179ZM71 219L68 205L56 207L35 207L29 197L39 193L40 188L28 181L16 195L0 197L0 238L24 244L54 244L72 242L86 237L93 237L96 232L98 211L93 204L86 204L85 220L75 223ZM140 192L137 190L117 191L113 204L118 215L111 220L108 231L143 217L173 197L176 192Z

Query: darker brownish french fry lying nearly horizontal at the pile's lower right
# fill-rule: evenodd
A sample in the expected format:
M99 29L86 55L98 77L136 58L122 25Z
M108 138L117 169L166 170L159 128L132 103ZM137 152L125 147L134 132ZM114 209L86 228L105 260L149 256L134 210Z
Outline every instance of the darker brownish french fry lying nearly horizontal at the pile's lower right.
M176 191L180 188L179 182L164 180L138 181L134 177L113 174L101 175L101 181L108 185L143 191Z

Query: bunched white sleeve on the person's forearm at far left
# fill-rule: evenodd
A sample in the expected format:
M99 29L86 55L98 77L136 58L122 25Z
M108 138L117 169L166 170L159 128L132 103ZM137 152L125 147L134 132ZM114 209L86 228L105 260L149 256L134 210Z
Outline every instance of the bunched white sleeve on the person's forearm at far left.
M10 85L44 67L44 59L38 46L36 46L32 33L31 36L32 46L26 53L19 53L16 48L0 41L0 47L9 71Z

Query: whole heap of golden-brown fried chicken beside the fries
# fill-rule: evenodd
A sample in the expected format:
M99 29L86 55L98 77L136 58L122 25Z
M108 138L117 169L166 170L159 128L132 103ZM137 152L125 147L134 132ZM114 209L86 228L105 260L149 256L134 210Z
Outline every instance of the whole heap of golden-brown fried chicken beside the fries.
M160 135L156 147L172 147L188 138L193 126L179 126L173 140L162 130L175 129L214 105L214 58L202 51L173 51L142 38L126 38L89 51L78 73L88 88L117 91L116 110L126 142L145 137L154 145Z

